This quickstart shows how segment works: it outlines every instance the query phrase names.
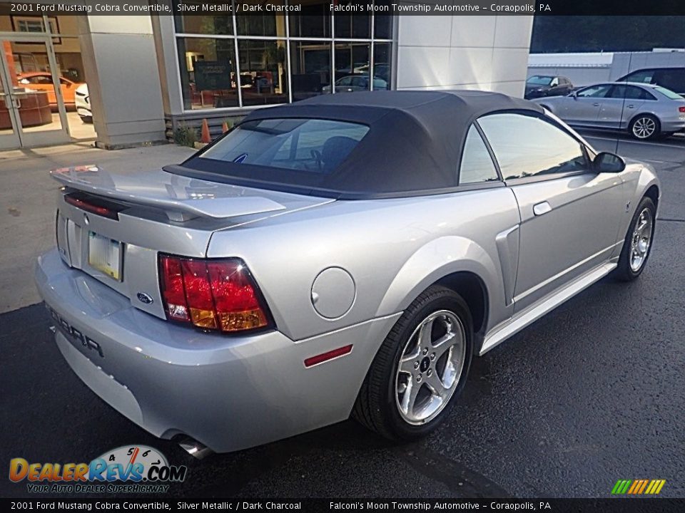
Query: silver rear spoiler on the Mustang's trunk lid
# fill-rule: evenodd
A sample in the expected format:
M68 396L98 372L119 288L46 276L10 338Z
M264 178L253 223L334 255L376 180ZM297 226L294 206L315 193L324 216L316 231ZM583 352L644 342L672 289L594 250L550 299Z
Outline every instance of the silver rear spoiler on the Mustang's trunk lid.
M285 207L243 187L171 175L163 170L112 173L96 165L60 167L50 175L66 187L110 199L163 210L172 221L194 217L224 219Z

